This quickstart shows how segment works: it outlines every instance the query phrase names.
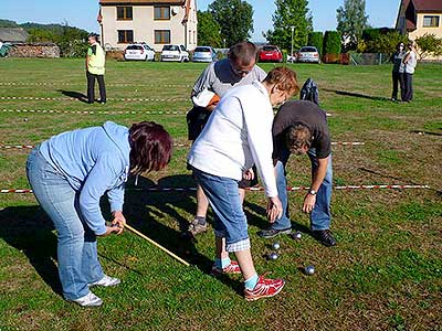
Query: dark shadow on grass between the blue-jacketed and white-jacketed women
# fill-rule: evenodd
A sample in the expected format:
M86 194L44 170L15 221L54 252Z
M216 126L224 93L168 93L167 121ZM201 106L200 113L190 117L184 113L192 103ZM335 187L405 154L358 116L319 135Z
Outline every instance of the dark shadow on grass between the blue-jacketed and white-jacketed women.
M130 178L127 183L124 211L127 223L189 264L194 265L202 273L210 275L213 259L198 252L194 246L198 237L190 239L182 235L189 225L189 220L183 215L193 215L196 211L194 191L147 191L157 185L188 188L193 186L194 182L191 175L186 174L162 178L158 184L139 177L135 186L134 178ZM160 222L161 218L169 218L169 222L171 218L172 223L177 222L178 229L173 228L173 224ZM150 244L146 243L146 245ZM243 285L241 282L227 276L220 276L217 279L242 296Z

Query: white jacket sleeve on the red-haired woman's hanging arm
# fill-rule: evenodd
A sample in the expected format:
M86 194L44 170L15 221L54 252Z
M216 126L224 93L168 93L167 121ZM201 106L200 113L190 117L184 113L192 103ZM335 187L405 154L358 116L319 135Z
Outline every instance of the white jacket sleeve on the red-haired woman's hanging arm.
M248 129L249 147L265 188L265 195L277 196L276 179L273 169L272 121L273 109L263 97L251 97L242 103L244 120Z

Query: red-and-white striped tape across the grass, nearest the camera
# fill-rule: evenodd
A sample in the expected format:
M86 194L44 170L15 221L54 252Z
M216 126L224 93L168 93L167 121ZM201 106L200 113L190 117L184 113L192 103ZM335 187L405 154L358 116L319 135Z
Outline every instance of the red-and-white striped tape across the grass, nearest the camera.
M429 185L344 185L344 186L334 186L334 190L340 191L354 191L354 190L373 190L373 189L383 189L383 190L420 190L420 189L430 189ZM197 188L146 188L146 189L128 189L127 191L146 191L146 192L187 192L187 191L196 191ZM251 192L260 192L264 191L264 188L249 188L246 189ZM307 191L308 186L287 186L288 192L295 191ZM29 189L6 189L0 190L0 193L32 193L32 190Z

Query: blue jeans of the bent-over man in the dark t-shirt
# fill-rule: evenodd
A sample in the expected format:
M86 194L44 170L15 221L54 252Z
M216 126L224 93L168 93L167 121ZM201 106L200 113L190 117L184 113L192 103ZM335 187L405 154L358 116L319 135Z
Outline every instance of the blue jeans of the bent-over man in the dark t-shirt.
M312 162L312 173L318 168L318 160L316 157L316 150L311 148L307 151L307 156ZM275 166L276 170L276 185L277 194L283 204L284 214L283 216L273 223L272 228L284 229L292 227L292 222L288 214L288 195L287 195L287 180L285 178L285 164L288 161L290 151L286 150L282 160L278 160ZM332 202L332 184L333 184L333 169L332 169L332 154L328 157L327 172L324 181L316 193L316 204L311 213L311 228L313 231L328 229L330 227L332 214L330 214L330 202Z

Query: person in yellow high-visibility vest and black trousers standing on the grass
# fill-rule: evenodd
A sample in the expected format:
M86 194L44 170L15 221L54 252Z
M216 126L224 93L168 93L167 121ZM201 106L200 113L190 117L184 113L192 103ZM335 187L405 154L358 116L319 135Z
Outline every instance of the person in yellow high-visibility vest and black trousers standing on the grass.
M106 53L97 41L97 35L91 33L87 38L90 47L86 55L86 77L87 77L87 102L93 104L95 100L95 79L98 81L99 103L106 104L106 87L104 85L104 72Z

